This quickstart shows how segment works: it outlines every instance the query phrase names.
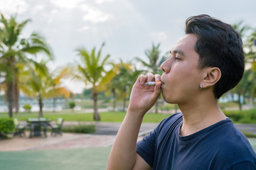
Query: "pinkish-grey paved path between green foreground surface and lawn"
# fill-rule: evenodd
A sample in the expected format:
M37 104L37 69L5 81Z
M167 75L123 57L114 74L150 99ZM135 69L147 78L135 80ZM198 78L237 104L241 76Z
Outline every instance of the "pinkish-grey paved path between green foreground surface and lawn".
M65 122L64 125L78 125L78 122ZM81 123L80 123L81 124ZM83 123L82 123L83 124ZM92 123L85 123L92 124ZM41 150L41 149L75 149L87 147L109 147L113 144L115 135L121 123L93 123L96 125L96 132L93 135L63 133L63 136L56 137L14 137L10 140L0 140L0 152L20 151L20 150ZM142 123L138 140L142 136L153 130L158 123ZM256 125L239 124L239 130L245 130L256 134Z

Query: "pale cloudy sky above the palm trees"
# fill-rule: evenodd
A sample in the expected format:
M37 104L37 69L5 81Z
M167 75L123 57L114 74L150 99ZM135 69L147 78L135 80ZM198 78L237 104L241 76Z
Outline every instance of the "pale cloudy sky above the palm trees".
M244 21L256 28L255 0L0 0L0 12L17 20L31 19L23 36L40 33L53 49L49 67L79 62L76 49L97 50L105 42L102 57L128 62L146 60L145 50L160 43L161 55L184 34L190 16L206 13L226 23ZM74 93L85 85L65 81Z

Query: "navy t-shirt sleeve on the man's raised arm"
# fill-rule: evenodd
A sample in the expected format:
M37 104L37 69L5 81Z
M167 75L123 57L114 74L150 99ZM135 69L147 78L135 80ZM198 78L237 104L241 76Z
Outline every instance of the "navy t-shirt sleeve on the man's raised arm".
M149 166L153 167L157 128L137 142L137 154L141 156Z

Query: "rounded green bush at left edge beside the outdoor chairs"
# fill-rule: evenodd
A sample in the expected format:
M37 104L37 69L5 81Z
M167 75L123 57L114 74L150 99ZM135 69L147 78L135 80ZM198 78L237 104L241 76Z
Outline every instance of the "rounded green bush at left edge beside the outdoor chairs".
M12 132L15 128L14 120L11 118L0 118L0 136L6 137L6 134Z

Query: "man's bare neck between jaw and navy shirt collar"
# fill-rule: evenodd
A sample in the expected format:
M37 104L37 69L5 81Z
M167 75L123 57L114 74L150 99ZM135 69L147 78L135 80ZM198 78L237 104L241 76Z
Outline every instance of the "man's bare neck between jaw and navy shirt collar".
M218 107L218 101L215 98L200 100L200 102L195 100L190 104L186 103L178 106L183 114L181 136L191 135L218 123L220 120L226 119L226 116Z

